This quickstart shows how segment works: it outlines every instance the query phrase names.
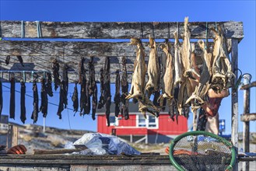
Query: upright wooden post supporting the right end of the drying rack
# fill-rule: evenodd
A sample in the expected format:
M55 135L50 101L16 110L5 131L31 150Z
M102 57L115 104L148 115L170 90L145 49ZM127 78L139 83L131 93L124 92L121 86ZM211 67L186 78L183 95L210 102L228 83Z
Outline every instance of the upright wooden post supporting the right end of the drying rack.
M232 71L236 75L236 78L233 80L232 87L232 99L231 99L231 141L233 145L238 147L238 96L237 89L234 88L234 85L237 83L237 58L238 58L238 40L232 39L232 49L231 49L231 66ZM234 170L238 170L238 163L234 167Z

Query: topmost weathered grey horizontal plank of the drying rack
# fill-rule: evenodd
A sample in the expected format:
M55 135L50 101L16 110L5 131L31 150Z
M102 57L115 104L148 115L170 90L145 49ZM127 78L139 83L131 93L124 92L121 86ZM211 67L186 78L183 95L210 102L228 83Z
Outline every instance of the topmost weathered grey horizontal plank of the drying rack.
M209 22L208 28L222 24L227 38L243 39L242 22ZM184 33L183 22L40 22L40 30L44 38L72 39L129 39L131 37L156 39L174 38L173 33L179 28L180 37ZM206 22L191 22L192 39L205 38ZM24 22L24 37L37 37L36 22ZM12 30L12 31L10 31ZM21 37L21 21L1 21L0 37ZM213 38L208 30L209 38Z

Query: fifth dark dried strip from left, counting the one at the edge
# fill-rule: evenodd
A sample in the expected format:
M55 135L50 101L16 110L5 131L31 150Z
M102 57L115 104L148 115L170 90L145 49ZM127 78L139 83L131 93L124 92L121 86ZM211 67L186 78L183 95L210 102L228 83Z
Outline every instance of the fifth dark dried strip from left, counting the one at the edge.
M48 108L48 97L47 97L47 90L46 90L46 79L41 79L41 104L40 104L40 112L43 113L43 117L47 116L47 108Z

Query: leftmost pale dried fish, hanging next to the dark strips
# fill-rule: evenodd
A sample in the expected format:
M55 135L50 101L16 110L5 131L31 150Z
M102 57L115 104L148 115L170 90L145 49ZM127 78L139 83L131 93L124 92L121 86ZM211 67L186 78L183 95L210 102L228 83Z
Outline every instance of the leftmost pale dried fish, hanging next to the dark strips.
M145 63L145 53L142 46L141 40L131 39L131 44L137 46L137 53L135 59L134 72L132 75L132 86L126 99L138 99L139 101L139 111L142 112L146 118L146 112L152 113L156 116L156 112L159 112L159 109L153 105L152 101L145 95L145 77L146 77L146 63ZM153 110L149 110L149 107Z

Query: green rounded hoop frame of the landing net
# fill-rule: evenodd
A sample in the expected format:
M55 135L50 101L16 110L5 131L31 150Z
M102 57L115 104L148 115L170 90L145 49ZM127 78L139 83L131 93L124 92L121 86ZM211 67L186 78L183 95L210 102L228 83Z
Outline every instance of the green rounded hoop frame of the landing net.
M212 134L210 132L206 132L206 131L189 131L189 132L185 132L184 134L180 134L179 136L177 136L177 138L174 138L174 141L171 141L170 143L170 150L169 150L169 158L170 158L170 162L173 164L173 166L180 170L180 171L185 171L174 159L174 145L177 144L177 141L180 141L182 138L190 136L190 135L206 135L209 136L211 138L216 138L219 141L223 142L226 146L228 146L231 150L231 162L230 162L230 166L226 167L225 171L231 170L236 162L237 159L237 155L236 155L236 149L235 147L229 142L227 141L225 138L219 137L216 134Z

